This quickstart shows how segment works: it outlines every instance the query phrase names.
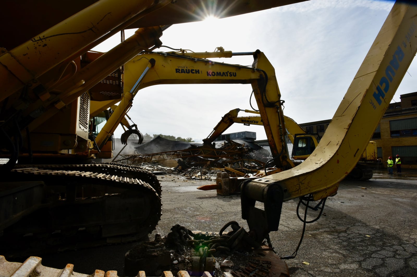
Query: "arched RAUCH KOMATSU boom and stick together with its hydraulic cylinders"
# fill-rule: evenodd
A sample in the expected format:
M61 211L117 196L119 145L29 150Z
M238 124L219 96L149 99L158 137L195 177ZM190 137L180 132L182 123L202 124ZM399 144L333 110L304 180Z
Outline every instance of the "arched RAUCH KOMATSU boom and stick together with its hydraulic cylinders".
M250 55L254 57L251 67L238 64L217 63L207 58L231 58L236 55ZM113 133L115 126L120 123L120 116L128 110L133 102L133 97L140 93L140 89L156 84L251 84L251 91L259 107L259 113L263 114L263 126L268 134L269 145L274 157L274 170L270 173L284 171L293 168L286 145L286 127L282 112L281 94L276 82L274 67L265 57L264 53L255 52L233 53L218 47L216 52L149 52L139 54L137 57L124 65L125 93L121 103L114 109L102 131L95 137L100 146ZM141 76L138 92L130 93L137 85L138 73L146 68L146 74ZM249 93L248 93L249 94ZM249 96L249 95L248 95ZM91 101L91 114L97 114L103 108L113 106L117 100ZM206 149L210 151L211 149ZM223 180L226 177L223 176ZM253 176L252 178L256 178ZM230 187L238 187L241 179L233 179ZM223 182L224 183L224 182ZM222 186L222 193L228 186Z

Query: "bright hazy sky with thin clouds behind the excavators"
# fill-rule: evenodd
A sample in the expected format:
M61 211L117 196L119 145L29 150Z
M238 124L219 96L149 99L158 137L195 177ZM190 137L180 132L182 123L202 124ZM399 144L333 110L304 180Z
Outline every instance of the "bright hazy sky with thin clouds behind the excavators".
M298 123L331 119L394 2L311 0L218 20L169 27L163 45L213 52L260 49L275 68L285 101L284 114ZM126 31L130 36L134 30ZM105 52L120 40L94 50ZM161 47L156 51L171 51ZM251 56L214 59L251 65ZM409 67L393 101L417 91L417 61ZM142 89L128 115L145 134L206 138L231 109L250 109L251 86L244 84L156 85ZM254 102L254 99L252 99ZM254 103L256 107L256 103ZM247 116L241 112L240 116ZM254 131L266 139L262 126L234 124L225 133ZM120 137L119 127L115 137Z

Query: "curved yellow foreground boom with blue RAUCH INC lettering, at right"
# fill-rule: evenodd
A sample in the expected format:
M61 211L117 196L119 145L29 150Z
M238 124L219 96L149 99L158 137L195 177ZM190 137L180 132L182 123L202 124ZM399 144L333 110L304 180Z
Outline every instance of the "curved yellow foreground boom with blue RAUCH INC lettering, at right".
M319 200L337 192L361 157L417 52L417 6L396 2L354 77L316 150L296 168L242 185L242 218L259 239L277 230L280 203L304 195ZM264 202L265 210L254 207ZM264 220L265 219L265 220ZM278 218L279 221L279 218Z

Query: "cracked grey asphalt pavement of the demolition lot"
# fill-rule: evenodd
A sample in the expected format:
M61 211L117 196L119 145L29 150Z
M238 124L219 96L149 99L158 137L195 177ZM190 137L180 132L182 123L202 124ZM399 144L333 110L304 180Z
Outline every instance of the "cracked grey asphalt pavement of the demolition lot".
M156 233L165 236L175 224L189 230L215 231L241 219L240 196L220 196L196 188L213 181L158 176L162 185L162 217ZM298 200L283 204L279 230L271 242L280 256L291 255L300 240L302 222ZM313 214L311 214L313 218ZM124 253L135 244L99 247L43 257L43 265L91 274L95 269L117 270L123 276ZM417 276L417 175L384 172L370 181L342 181L329 197L322 217L307 224L294 259L286 260L291 277Z

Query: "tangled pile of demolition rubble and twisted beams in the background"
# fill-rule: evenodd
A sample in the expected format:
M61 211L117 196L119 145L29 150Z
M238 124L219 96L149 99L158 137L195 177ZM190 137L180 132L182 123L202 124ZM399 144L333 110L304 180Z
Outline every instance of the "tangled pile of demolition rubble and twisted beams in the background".
M198 179L216 179L218 171L233 177L253 174L263 169L269 159L266 149L244 139L203 145L157 136L135 149L137 154L120 155L117 161L141 166L154 174L174 173Z

